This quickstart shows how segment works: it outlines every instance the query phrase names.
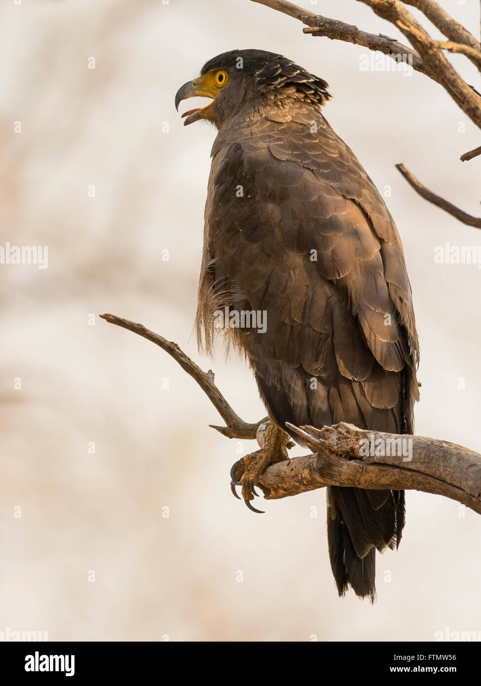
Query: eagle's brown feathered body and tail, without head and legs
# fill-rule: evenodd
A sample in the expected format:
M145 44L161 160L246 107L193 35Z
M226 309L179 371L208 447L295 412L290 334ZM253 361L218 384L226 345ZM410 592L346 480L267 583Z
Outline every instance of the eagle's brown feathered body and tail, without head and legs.
M281 427L347 421L410 433L418 342L392 217L324 119L315 134L294 122L263 126L213 150L198 324L209 340L213 309L266 313L266 332L237 331L237 343ZM351 582L366 595L373 546L399 543L399 498L331 490L340 592Z

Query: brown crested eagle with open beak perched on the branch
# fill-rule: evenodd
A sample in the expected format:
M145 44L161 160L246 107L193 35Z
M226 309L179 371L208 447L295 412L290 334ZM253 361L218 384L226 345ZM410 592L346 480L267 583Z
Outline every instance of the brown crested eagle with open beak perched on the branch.
M196 330L221 333L252 368L270 417L265 445L233 483L287 458L289 425L347 422L414 433L419 362L401 239L382 196L322 114L328 84L282 55L233 50L176 94L218 130L204 213ZM243 314L248 314L244 316ZM223 316L225 315L225 316ZM240 469L240 471L239 471ZM242 479L241 479L242 477ZM339 595L375 599L375 552L399 546L403 490L327 488Z

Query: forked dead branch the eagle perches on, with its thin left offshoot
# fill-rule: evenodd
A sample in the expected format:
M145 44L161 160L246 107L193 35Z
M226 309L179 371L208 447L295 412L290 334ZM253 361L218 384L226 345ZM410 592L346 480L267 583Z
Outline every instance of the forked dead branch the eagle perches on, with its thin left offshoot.
M218 410L226 427L213 427L228 438L256 438L261 445L266 419L247 424L233 411L213 382L179 346L142 324L102 314L110 324L152 341L191 376ZM423 436L398 436L357 429L350 424L332 427L288 427L314 454L272 464L259 478L266 499L285 498L324 486L422 490L445 495L481 514L481 455L454 443ZM403 443L404 441L404 443ZM408 443L406 443L408 442ZM410 446L409 450L404 449Z

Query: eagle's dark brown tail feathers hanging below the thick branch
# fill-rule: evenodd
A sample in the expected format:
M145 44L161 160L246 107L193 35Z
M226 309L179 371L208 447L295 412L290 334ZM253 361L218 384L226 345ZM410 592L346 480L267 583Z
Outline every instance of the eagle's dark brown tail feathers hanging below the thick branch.
M403 490L327 488L327 541L339 595L351 586L374 602L376 549L397 547L403 526Z

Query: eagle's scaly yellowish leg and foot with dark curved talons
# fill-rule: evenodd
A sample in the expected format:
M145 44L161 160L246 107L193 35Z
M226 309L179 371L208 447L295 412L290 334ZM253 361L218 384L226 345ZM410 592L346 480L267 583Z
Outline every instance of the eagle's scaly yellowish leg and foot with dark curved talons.
M260 441L262 447L254 453L241 458L238 462L233 464L231 469L231 490L235 497L239 497L235 493L235 486L242 484L242 497L249 510L253 512L261 512L250 505L250 500L257 495L255 492L255 484L259 480L259 476L266 471L270 464L274 462L283 462L288 460L287 445L290 442L288 434L281 429L274 421L270 421L265 437Z

